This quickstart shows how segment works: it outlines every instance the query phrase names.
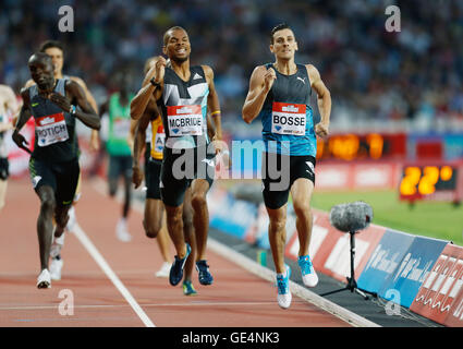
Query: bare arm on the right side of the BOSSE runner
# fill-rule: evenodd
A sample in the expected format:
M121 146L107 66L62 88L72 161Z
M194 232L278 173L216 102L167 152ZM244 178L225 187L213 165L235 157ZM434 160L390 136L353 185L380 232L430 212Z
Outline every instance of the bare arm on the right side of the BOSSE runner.
M317 93L317 105L320 111L320 122L315 125L315 133L319 137L326 137L330 125L331 94L321 81L318 70L312 64L307 64L306 68L310 86Z

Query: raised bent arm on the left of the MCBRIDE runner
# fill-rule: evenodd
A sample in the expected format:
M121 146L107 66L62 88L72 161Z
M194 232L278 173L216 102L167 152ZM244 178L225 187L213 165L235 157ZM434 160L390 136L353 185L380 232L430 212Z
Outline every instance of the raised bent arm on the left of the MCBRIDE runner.
M165 72L166 72L166 59L163 57L157 57L154 60L154 64L151 69L146 73L146 76L143 81L142 88L138 91L136 96L131 101L131 118L137 120L142 117L145 111L148 101L150 99L154 100L156 105L156 100L160 98L163 89L165 82ZM155 87L150 80L155 79L155 82L159 84L158 87ZM155 106L156 108L156 106Z

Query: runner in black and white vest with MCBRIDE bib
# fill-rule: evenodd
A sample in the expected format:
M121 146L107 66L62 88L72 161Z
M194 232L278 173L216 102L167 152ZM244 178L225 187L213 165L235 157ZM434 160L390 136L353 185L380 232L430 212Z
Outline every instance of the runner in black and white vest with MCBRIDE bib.
M172 286L180 282L191 253L183 234L183 202L192 186L193 225L197 242L196 269L199 284L214 281L206 261L209 212L206 194L214 182L215 156L220 149L209 149L207 111L216 125L215 140L222 139L220 104L214 85L214 72L208 65L190 67L191 45L185 29L175 26L163 36L163 57L146 74L143 88L132 101L131 116L141 118L150 98L159 106L166 132L161 169L161 198L165 203L169 234L176 250L170 269ZM209 151L209 152L208 152ZM185 173L186 172L186 173Z

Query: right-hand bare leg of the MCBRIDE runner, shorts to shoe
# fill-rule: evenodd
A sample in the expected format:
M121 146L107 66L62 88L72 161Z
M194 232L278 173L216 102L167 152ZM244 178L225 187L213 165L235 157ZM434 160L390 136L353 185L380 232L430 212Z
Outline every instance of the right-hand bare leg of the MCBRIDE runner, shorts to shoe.
M209 232L209 209L206 194L209 182L205 179L195 179L192 183L193 226L196 234L196 261L206 260L207 236Z

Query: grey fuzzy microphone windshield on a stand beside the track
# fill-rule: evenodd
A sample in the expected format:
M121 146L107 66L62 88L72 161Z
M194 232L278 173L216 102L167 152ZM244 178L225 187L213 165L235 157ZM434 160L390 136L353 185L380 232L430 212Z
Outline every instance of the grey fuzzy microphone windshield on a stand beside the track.
M331 207L330 224L344 232L365 229L373 220L373 208L363 201L339 204Z

